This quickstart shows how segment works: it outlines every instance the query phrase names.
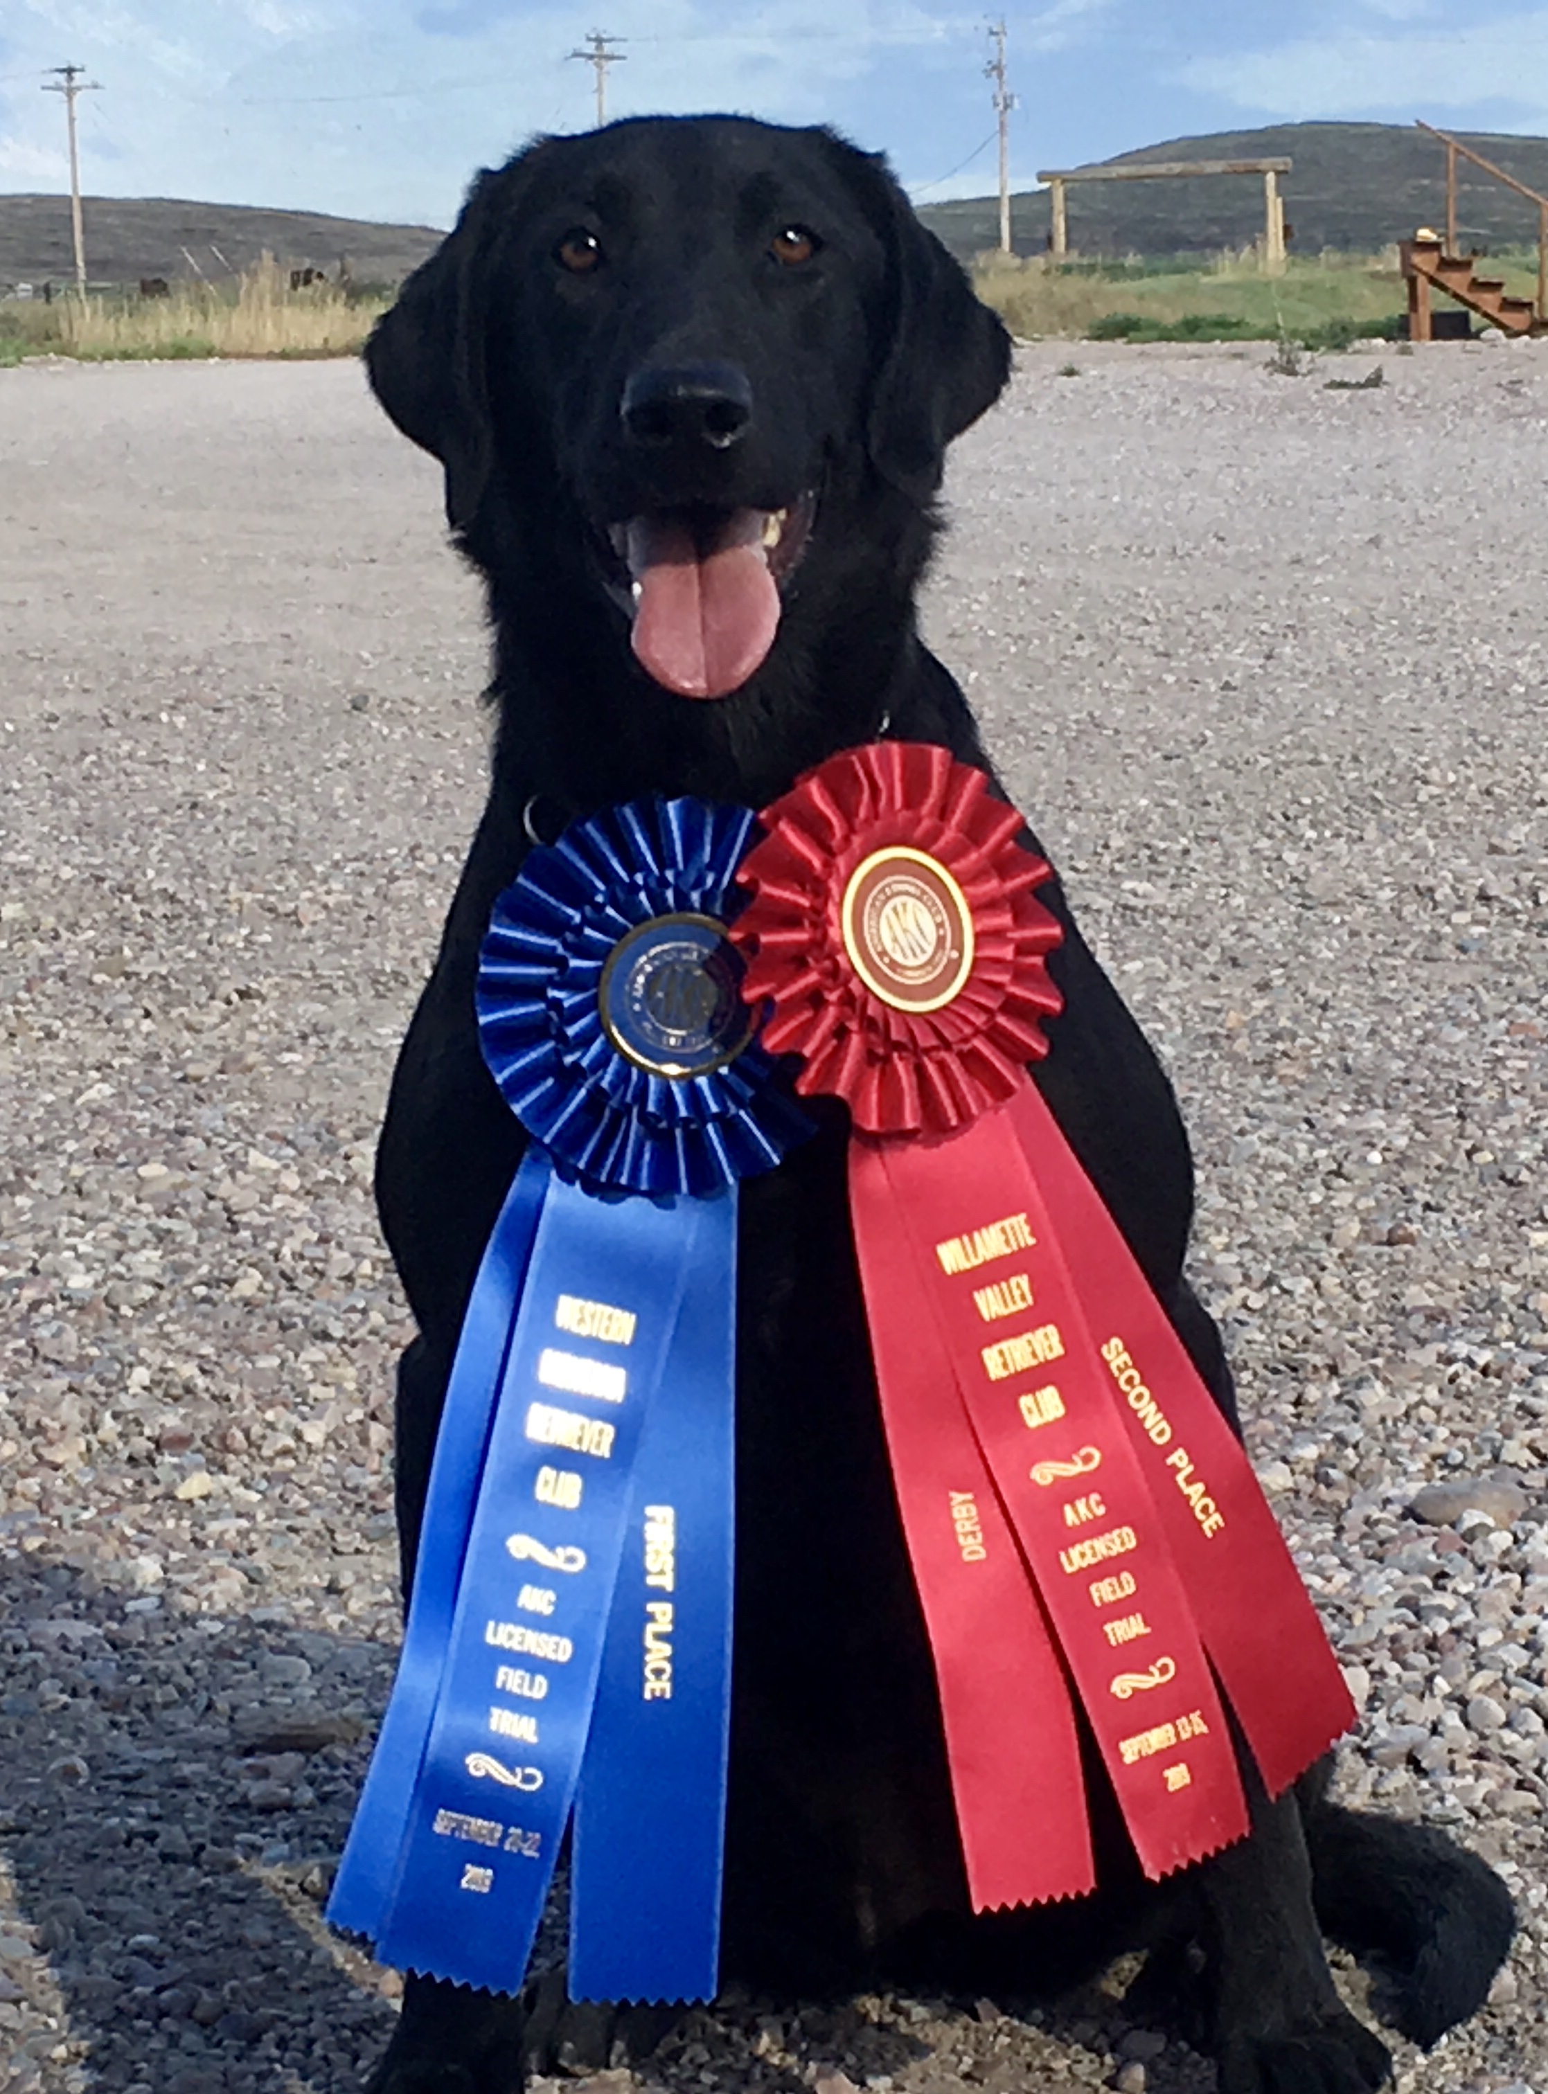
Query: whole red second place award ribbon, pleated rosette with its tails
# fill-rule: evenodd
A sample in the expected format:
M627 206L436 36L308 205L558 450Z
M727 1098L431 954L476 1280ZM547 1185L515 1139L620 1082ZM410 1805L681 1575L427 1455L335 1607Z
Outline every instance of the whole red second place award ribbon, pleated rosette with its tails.
M853 1118L892 1476L978 1910L1093 1889L1081 1723L1148 1876L1248 1828L1353 1721L1253 1470L1026 1076L1060 926L1020 815L876 743L762 815L731 936L762 1043Z

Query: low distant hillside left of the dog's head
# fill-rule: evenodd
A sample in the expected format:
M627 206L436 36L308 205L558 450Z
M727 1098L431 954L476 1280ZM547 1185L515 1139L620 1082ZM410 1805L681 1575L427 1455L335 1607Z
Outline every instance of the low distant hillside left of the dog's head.
M356 283L396 283L440 245L432 226L377 226L323 211L264 211L241 203L180 199L86 197L86 272L92 283L138 283L140 276L222 279L268 249L291 268L337 274L350 258ZM184 249L189 253L184 253ZM222 268L220 258L228 268ZM197 264L191 266L189 255ZM75 274L69 197L0 195L0 285L65 283Z

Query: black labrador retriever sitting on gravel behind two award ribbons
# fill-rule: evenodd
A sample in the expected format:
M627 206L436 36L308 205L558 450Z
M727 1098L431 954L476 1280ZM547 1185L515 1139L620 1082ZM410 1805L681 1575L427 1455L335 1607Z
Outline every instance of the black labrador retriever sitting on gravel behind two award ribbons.
M367 360L442 461L452 534L488 582L499 718L377 1175L419 1326L398 1395L408 1579L463 1307L524 1148L473 1024L490 905L534 836L639 794L762 806L880 735L989 768L913 595L945 448L1001 392L1010 343L880 159L827 130L693 117L549 138L482 174ZM1043 896L1064 1016L1037 1083L1236 1422L1184 1277L1173 1093L1060 890ZM834 1108L744 1187L725 1977L1026 1996L1148 1945L1177 1985L1198 1975L1228 2094L1383 2084L1387 2050L1341 2006L1324 1933L1380 1952L1399 2027L1433 2042L1481 2004L1512 1914L1437 1832L1330 1803L1326 1767L1280 1801L1244 1767L1251 1836L1160 1887L1108 1811L1093 1897L970 1914L844 1141ZM377 2094L509 2094L528 2012L411 1981Z

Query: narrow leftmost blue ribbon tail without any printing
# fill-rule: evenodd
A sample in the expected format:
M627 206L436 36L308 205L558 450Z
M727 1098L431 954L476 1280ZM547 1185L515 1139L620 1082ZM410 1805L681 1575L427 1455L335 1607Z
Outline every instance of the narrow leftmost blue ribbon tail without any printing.
M327 1908L333 1926L371 1941L381 1935L398 1885L408 1805L440 1696L494 1397L547 1187L549 1160L532 1145L484 1248L446 1384L398 1677Z

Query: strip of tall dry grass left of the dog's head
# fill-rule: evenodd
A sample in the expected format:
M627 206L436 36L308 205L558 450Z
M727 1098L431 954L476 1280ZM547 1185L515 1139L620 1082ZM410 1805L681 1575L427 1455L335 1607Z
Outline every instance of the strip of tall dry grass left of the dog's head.
M289 272L264 258L235 291L180 283L170 297L57 297L10 304L0 316L0 356L354 356L385 297L354 297L339 285L293 291ZM8 337L8 341L4 339Z

